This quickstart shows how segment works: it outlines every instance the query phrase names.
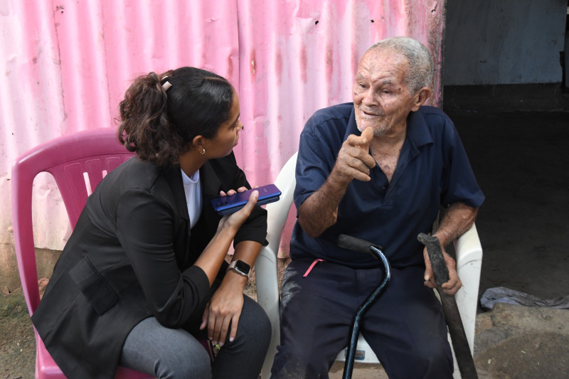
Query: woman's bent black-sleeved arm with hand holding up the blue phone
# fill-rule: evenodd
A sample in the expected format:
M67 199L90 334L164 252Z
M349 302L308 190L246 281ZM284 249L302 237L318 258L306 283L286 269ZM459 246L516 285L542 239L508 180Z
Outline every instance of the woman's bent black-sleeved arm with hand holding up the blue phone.
M174 253L171 206L144 190L129 191L119 201L117 237L161 324L181 326L203 301L235 233L255 207L257 194L252 194L242 210L221 218L196 263L182 272Z

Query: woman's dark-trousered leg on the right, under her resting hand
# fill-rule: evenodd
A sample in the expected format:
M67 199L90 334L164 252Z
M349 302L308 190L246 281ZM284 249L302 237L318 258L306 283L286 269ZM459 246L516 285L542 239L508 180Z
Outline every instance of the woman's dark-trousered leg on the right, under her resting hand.
M257 379L271 339L271 323L257 302L246 297L237 335L228 338L213 361L213 378Z

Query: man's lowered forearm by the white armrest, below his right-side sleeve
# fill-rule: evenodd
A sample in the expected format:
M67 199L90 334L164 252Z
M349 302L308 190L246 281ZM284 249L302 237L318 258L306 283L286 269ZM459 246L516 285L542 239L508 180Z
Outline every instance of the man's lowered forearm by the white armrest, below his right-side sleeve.
M441 245L447 246L466 233L476 219L478 208L472 208L463 203L452 203L442 215L439 228L434 233Z

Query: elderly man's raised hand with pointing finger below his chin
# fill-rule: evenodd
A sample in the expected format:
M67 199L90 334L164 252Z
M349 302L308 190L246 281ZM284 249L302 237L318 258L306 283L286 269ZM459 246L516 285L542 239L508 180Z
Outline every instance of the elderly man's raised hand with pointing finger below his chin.
M369 154L372 139L372 127L367 127L360 136L350 134L342 144L331 176L336 176L346 186L353 179L370 181L369 170L376 166L376 161Z

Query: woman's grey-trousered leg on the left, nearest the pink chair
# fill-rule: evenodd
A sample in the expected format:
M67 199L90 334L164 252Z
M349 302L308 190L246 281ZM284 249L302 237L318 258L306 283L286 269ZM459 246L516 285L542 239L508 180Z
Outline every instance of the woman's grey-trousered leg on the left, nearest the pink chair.
M211 378L208 352L184 329L169 329L154 317L127 336L119 365L159 379Z

